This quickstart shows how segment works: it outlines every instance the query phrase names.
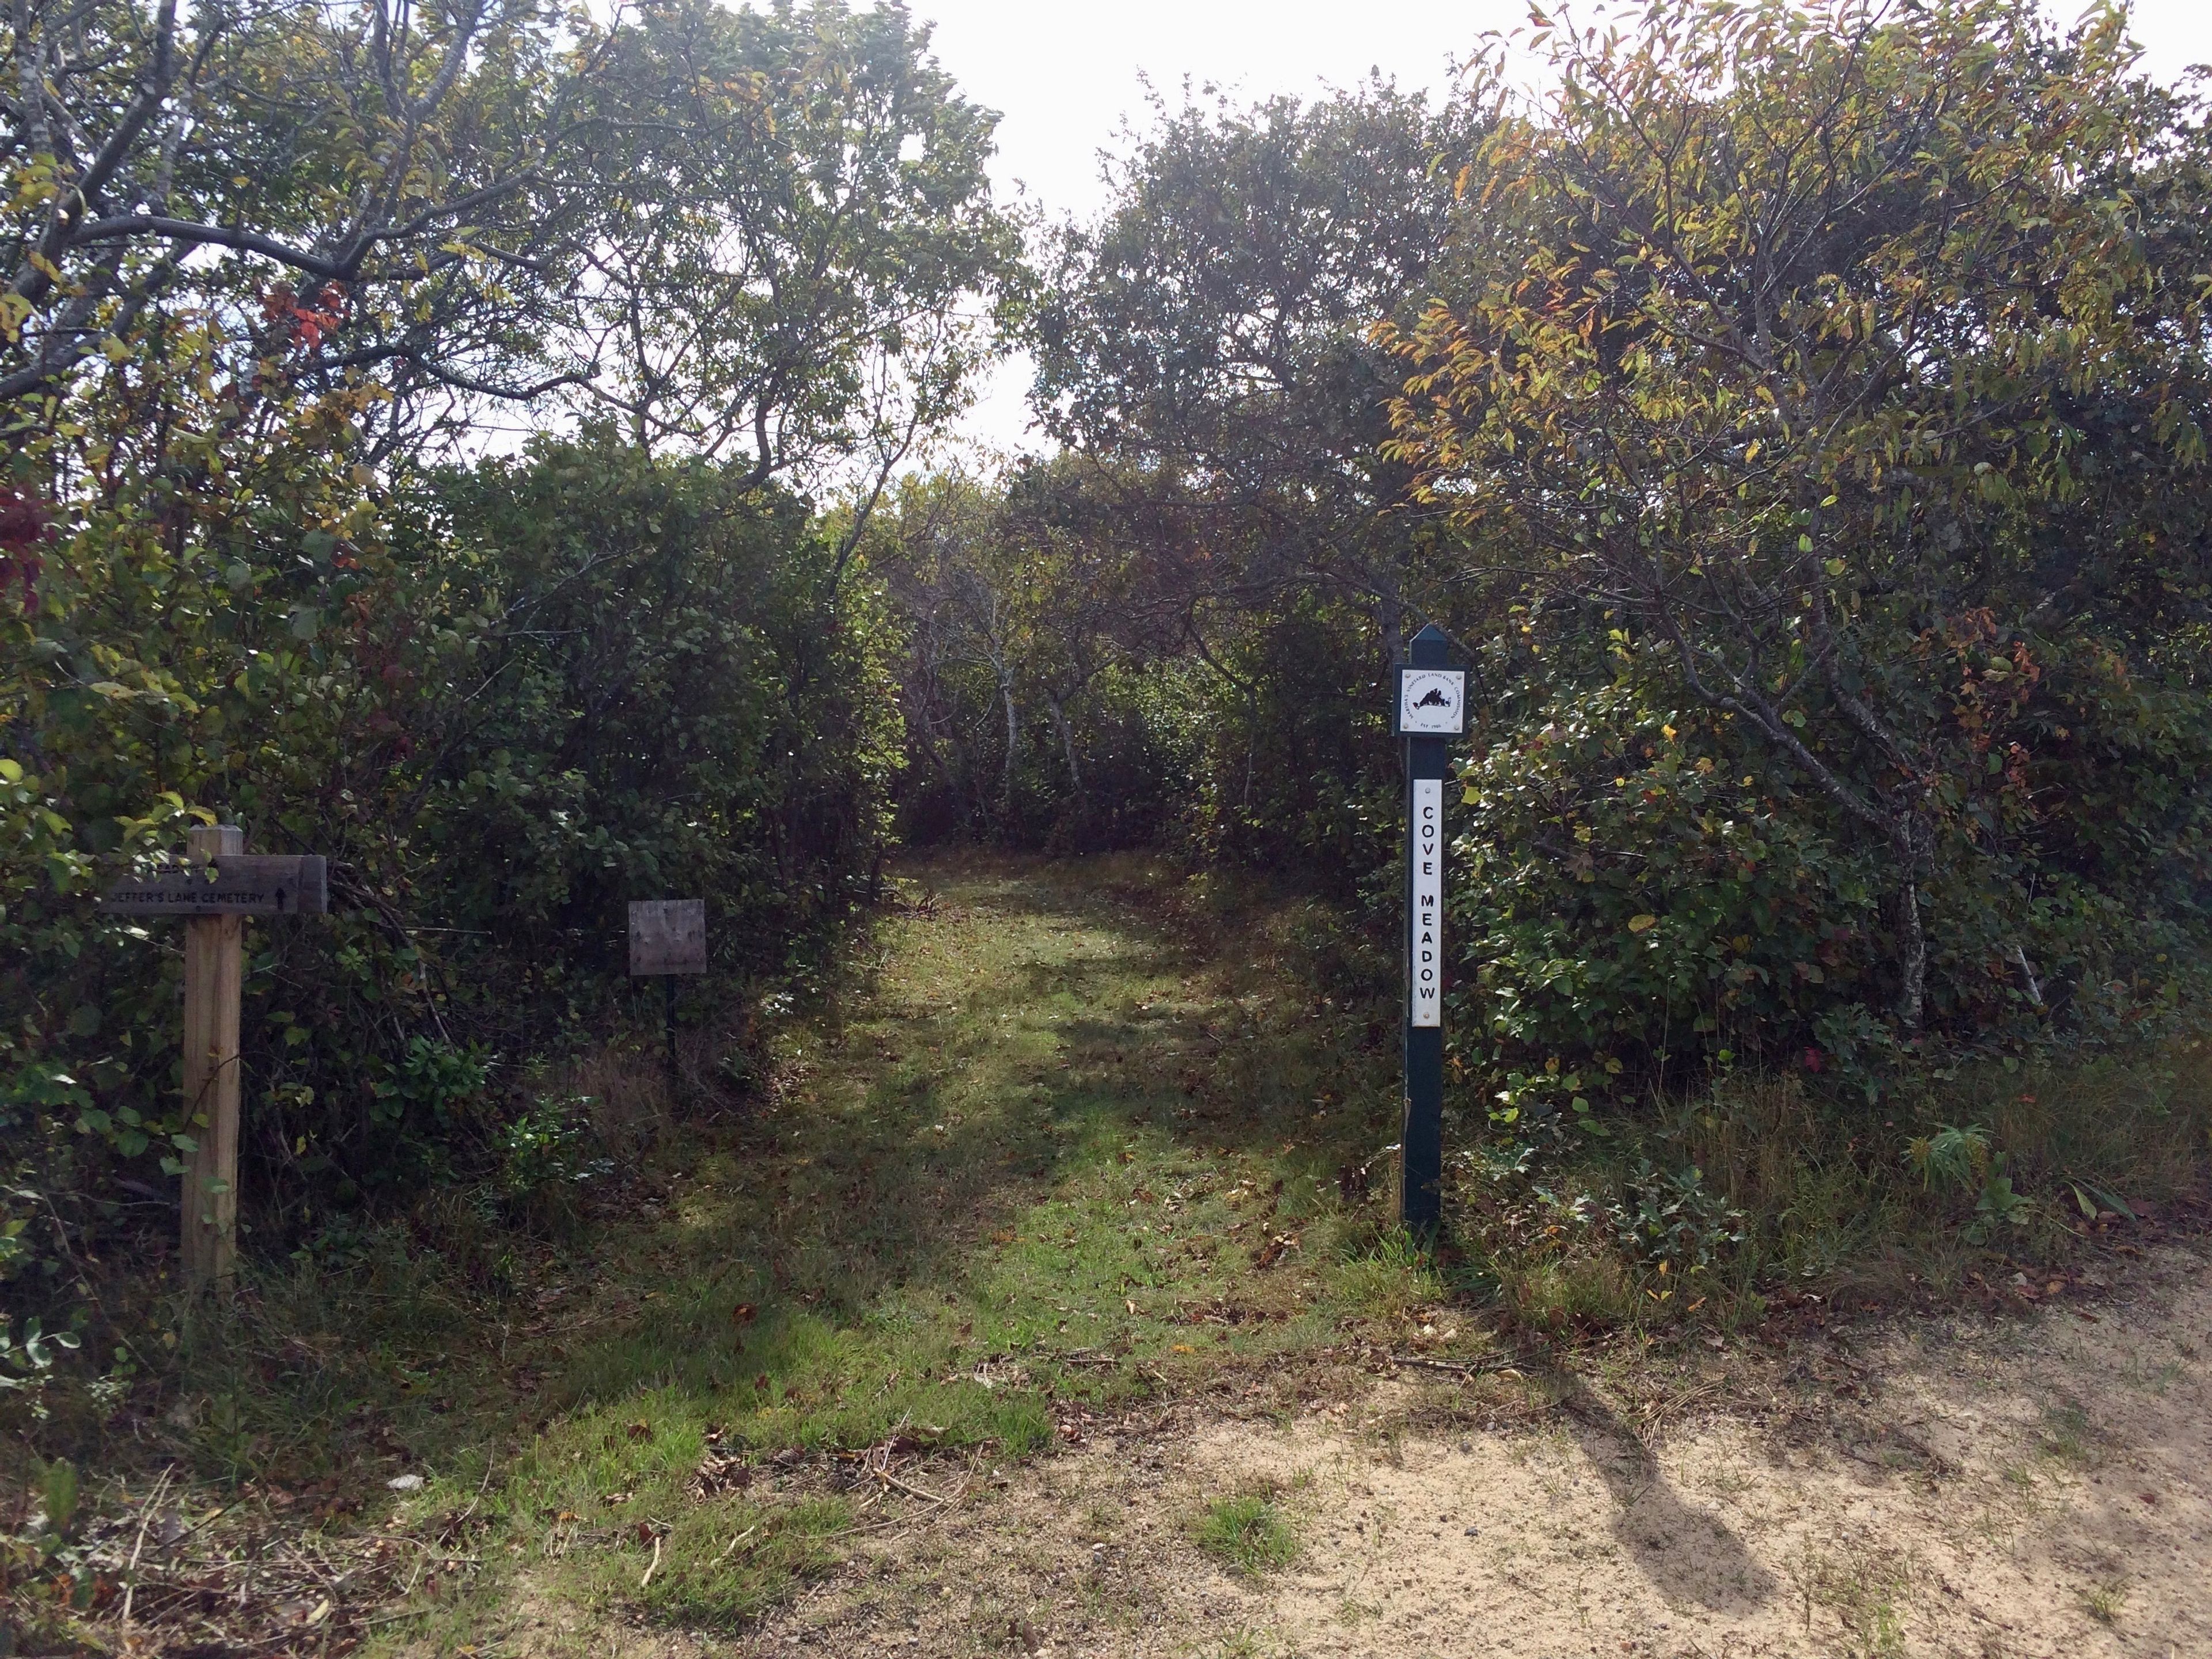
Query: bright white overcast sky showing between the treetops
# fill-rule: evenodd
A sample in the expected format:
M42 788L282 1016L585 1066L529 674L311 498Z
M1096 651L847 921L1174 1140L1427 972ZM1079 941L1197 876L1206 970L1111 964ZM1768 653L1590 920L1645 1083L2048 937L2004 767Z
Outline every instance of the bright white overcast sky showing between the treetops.
M1181 102L1183 80L1243 97L1312 95L1380 69L1400 86L1444 88L1453 58L1484 31L1526 22L1526 0L1376 4L1376 0L909 0L936 24L938 62L1002 113L995 177L1053 215L1104 204L1097 153L1119 148L1121 122L1144 124L1144 80ZM2053 9L2070 15L2066 0ZM2212 58L2205 0L2141 0L2135 35L2161 77ZM1009 363L967 420L973 440L1024 442L1029 365ZM1031 438L1029 442L1035 442Z

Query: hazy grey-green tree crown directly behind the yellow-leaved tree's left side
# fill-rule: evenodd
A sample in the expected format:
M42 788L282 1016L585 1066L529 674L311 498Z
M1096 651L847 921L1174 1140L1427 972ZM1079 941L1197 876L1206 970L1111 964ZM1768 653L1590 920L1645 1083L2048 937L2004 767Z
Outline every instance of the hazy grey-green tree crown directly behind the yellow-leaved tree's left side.
M1369 327L1427 294L1486 111L1374 82L1157 115L1113 208L1060 234L1037 407L1124 487L1157 480L1219 597L1352 595L1387 659L1409 473L1380 456L1400 376Z

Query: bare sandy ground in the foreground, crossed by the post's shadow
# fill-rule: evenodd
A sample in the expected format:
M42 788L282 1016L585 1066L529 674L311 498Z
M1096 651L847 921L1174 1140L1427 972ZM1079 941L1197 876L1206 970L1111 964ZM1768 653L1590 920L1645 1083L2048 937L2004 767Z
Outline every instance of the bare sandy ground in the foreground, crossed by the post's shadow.
M1641 1400L1186 1409L916 1509L748 1637L633 1650L2212 1655L2208 1347L2212 1265L2168 1250L2028 1316L1732 1343ZM1254 1484L1303 1553L1248 1579L1190 1522Z

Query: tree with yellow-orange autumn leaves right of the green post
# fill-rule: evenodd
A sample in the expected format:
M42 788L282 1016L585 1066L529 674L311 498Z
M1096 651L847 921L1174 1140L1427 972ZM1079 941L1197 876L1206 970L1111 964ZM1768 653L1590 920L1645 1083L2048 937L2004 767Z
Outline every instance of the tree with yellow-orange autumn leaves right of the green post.
M2022 849L2101 856L2062 810L2062 688L2203 626L2203 111L2132 73L2115 9L1542 35L1557 93L1462 175L1442 299L1380 332L1411 374L1389 453L1478 568L1617 628L1621 672L1677 677L1887 852L1905 1031L1958 858L1960 909L2002 911L1964 933L2039 1006ZM2161 847L2128 856L2139 883Z

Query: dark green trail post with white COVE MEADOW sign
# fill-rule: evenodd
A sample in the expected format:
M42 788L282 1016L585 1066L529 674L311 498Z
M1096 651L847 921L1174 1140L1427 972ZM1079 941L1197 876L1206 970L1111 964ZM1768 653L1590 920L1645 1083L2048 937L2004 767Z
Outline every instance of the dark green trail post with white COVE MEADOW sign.
M1405 739L1405 1133L1398 1219L1433 1232L1444 1179L1444 770L1467 730L1467 670L1431 624L1407 646L1391 701Z

